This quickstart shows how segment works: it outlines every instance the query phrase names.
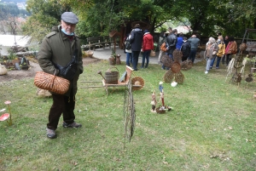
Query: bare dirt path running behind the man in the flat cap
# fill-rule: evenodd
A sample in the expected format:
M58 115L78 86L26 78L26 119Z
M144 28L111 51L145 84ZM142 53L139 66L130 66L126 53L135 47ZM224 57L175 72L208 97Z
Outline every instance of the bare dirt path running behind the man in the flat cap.
M95 63L100 61L99 59L96 58L84 58L83 59L83 65L86 66L90 63ZM8 73L6 75L0 76L0 83L1 82L8 82L11 80L20 80L22 78L25 77L35 77L35 74L37 71L42 71L42 69L40 68L40 66L38 65L38 63L32 62L30 61L30 68L28 70L14 70L14 71L8 71Z

